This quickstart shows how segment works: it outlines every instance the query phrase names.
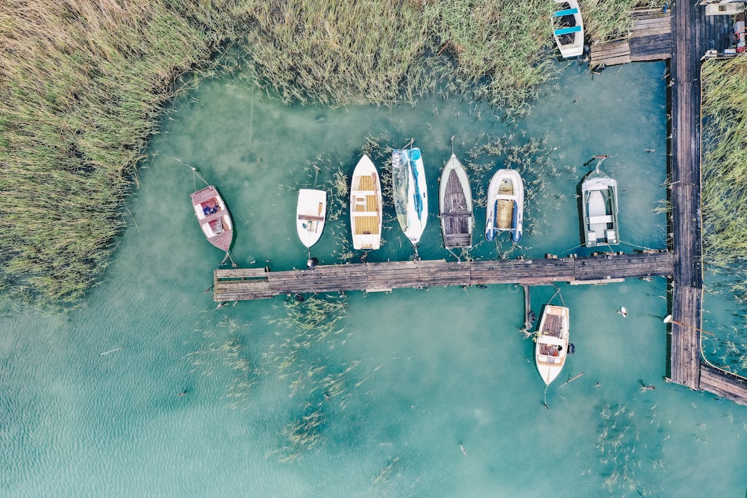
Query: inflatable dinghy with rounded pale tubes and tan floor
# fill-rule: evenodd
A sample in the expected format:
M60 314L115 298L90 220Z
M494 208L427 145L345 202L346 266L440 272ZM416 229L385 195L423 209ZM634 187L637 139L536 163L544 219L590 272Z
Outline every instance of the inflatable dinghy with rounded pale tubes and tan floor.
M524 217L524 181L515 169L498 169L488 186L485 238L494 240L499 231L509 231L511 240L521 241Z

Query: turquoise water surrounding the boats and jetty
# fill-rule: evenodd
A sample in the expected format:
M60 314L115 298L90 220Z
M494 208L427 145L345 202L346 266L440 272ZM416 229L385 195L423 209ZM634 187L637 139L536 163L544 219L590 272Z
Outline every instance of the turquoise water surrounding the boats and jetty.
M281 370L278 355L300 340L271 321L286 316L283 299L215 309L208 287L223 255L202 237L189 204L192 175L173 160L199 166L220 188L241 266L305 264L293 214L297 187L314 183L309 161L329 185L335 170L350 174L368 137L382 146L415 137L423 151L434 202L422 258L453 258L434 215L452 135L477 198L505 157L468 159L468 151L502 137L517 147L542 141L518 166L530 196L521 248L480 243L473 257L586 254L577 248L575 192L590 167L583 164L599 154L610 155L603 166L619 182L619 249L660 248L664 72L663 63L627 64L592 81L568 66L531 115L512 124L480 105L435 97L414 109L332 111L279 104L238 76L203 81L152 141L128 230L87 307L3 319L2 494L743 496L747 408L663 381L663 279L560 285L555 299L571 308L576 354L547 393L533 343L520 332L515 286L330 296L347 314ZM483 220L478 210L477 234ZM391 206L385 221L385 245L369 260L412 257ZM347 254L348 231L346 211L312 254L327 264L358 261ZM533 309L554 293L534 287ZM621 305L626 318L616 313ZM729 306L714 305L709 320L727 320ZM642 390L649 384L656 388ZM311 416L321 420L317 444L292 447L283 429Z

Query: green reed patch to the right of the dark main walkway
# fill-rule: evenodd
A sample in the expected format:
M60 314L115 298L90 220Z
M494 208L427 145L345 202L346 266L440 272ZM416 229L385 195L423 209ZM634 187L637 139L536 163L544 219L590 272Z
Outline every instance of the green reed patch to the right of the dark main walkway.
M702 214L704 263L740 274L733 290L747 300L747 57L702 67Z

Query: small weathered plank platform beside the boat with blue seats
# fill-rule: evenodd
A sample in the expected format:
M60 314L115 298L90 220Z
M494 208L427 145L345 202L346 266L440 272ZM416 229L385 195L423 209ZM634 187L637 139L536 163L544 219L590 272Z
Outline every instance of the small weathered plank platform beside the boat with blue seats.
M672 13L662 9L635 10L633 28L622 40L592 45L589 66L614 66L672 56Z

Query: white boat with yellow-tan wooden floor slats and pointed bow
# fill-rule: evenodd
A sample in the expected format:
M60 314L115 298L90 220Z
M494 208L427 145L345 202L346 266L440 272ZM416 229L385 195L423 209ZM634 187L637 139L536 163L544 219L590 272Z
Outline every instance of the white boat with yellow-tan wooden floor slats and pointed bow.
M350 228L354 249L379 249L381 245L381 181L368 155L353 171L350 184Z

